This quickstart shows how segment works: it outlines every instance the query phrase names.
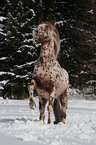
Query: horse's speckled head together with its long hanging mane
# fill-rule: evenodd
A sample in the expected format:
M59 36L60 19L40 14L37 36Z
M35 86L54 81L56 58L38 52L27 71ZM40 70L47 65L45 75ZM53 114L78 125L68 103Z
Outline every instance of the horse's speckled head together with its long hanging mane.
M53 46L55 56L57 57L60 49L60 38L59 32L55 27L55 22L56 21L52 23L40 21L38 27L33 30L33 38L42 44L48 43L52 40L54 42Z

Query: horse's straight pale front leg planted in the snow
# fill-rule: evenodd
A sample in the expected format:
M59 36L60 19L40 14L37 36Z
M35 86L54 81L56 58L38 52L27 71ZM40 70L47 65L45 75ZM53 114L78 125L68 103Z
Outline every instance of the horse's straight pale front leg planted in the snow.
M53 87L52 92L50 93L49 96L49 105L48 105L48 123L50 124L51 121L51 116L52 116L52 112L53 112L53 102L54 102L54 98L55 98L55 87Z

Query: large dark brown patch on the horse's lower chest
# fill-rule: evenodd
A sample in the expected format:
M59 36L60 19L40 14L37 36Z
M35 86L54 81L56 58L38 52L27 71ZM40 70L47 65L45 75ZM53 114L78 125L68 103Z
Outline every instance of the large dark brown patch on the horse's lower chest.
M33 79L36 81L37 88L43 89L47 92L52 92L54 87L54 82L52 80L46 80L39 76L34 76Z

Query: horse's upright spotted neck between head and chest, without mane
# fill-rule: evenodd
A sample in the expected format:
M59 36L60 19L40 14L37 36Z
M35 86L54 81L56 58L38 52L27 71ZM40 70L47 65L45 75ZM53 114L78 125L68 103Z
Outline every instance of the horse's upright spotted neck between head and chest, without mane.
M47 42L42 45L39 61L47 62L54 58L54 41L50 40L50 42Z

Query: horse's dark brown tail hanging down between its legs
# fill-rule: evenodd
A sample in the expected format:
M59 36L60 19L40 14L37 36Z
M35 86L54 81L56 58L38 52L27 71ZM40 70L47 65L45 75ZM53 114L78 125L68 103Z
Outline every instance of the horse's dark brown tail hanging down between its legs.
M56 98L54 100L53 111L54 111L54 115L55 115L54 124L57 124L57 123L61 122L62 111L61 111L60 103Z

